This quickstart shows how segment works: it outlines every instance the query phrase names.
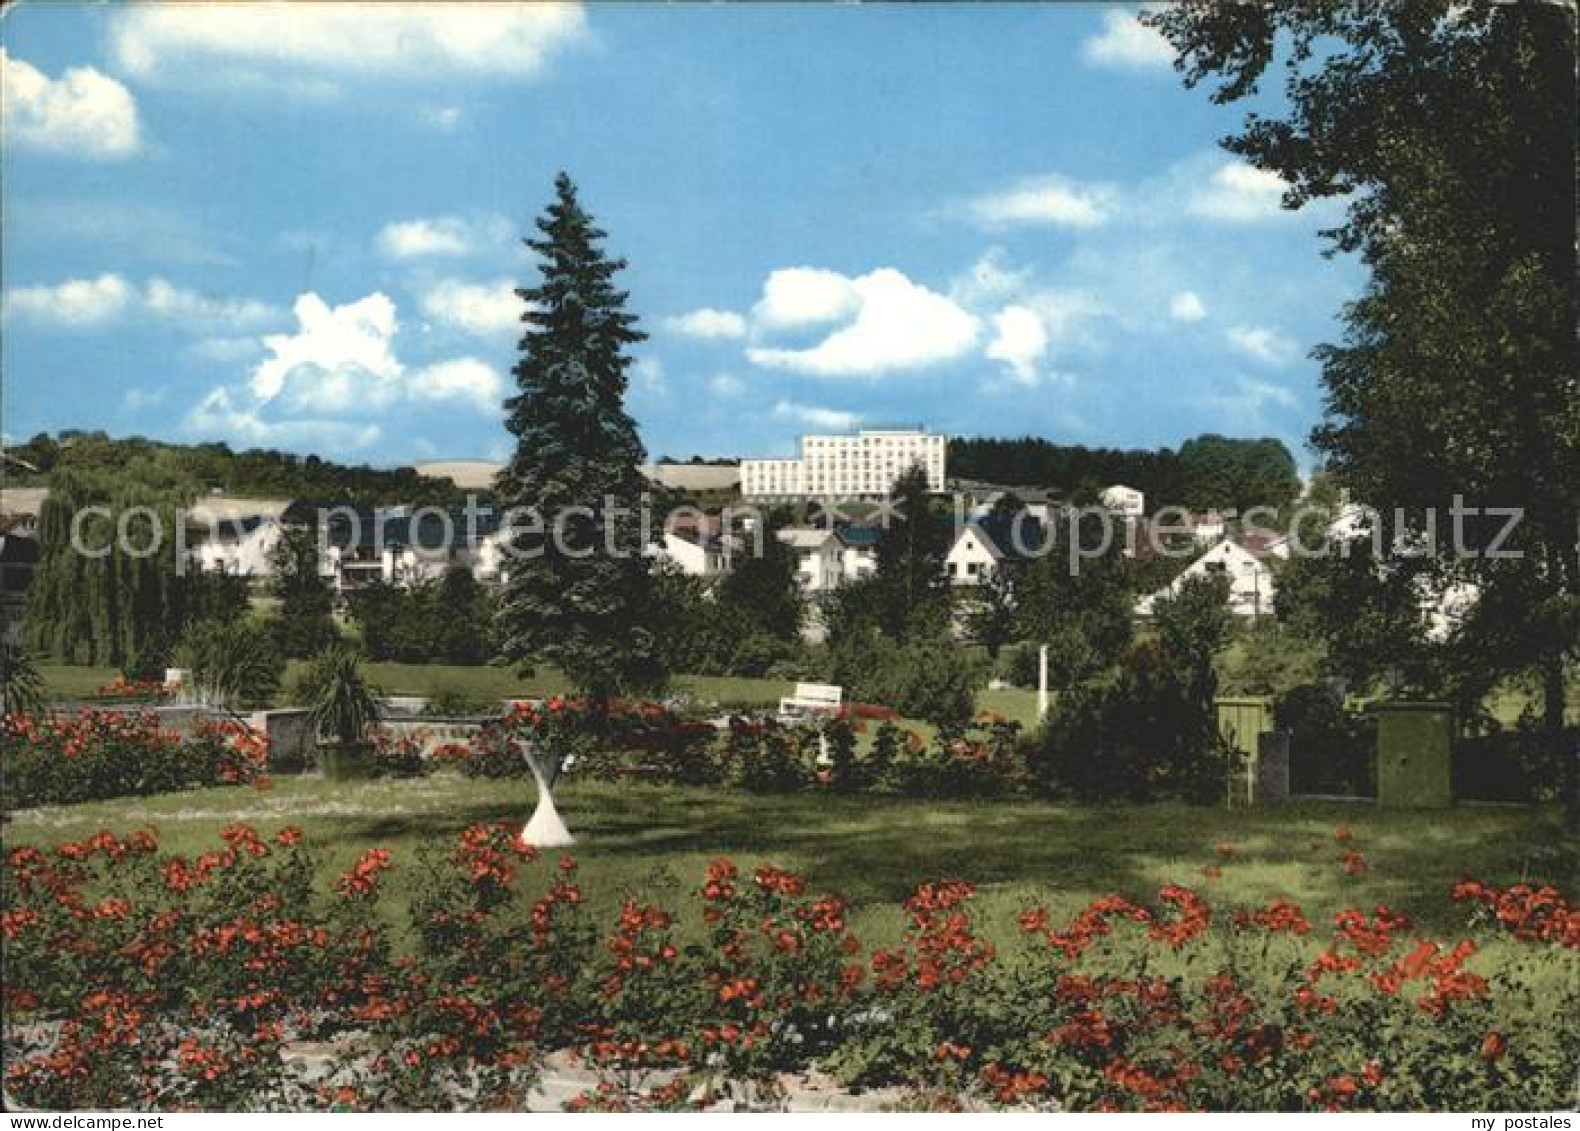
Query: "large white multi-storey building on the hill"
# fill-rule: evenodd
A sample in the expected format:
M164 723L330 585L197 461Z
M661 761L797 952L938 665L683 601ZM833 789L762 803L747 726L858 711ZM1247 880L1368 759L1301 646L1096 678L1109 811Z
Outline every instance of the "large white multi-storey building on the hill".
M799 460L741 460L747 499L882 499L913 466L943 490L946 441L921 428L803 436Z

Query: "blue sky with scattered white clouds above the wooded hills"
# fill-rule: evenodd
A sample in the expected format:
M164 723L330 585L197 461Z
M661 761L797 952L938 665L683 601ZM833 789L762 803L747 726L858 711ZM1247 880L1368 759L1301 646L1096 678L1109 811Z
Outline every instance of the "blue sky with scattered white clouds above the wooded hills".
M1307 464L1362 269L1134 14L8 6L0 430L504 458L564 169L629 259L653 457L923 425Z

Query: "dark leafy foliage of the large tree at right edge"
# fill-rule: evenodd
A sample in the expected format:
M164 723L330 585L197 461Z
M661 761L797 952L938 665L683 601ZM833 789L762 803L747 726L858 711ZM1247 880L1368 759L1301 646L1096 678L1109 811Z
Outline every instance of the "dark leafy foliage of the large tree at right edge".
M1563 723L1580 651L1572 3L1176 5L1144 17L1213 100L1285 65L1285 107L1224 144L1289 183L1288 207L1345 202L1327 235L1370 267L1322 346L1330 469L1417 554L1454 496L1520 507L1518 558L1439 553L1420 584L1480 591L1452 641L1490 671L1540 670ZM1398 520L1395 521L1395 509ZM1466 526L1485 548L1504 518ZM1395 539L1395 534L1405 534ZM1364 627L1364 626L1360 626Z

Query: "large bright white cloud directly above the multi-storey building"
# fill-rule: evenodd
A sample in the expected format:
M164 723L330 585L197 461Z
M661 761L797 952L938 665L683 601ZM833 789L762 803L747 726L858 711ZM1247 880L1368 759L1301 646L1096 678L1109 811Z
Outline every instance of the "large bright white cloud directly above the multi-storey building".
M815 346L752 346L749 360L815 376L872 376L915 370L965 355L980 321L893 267L858 278L806 267L773 272L755 308L768 329L848 319Z

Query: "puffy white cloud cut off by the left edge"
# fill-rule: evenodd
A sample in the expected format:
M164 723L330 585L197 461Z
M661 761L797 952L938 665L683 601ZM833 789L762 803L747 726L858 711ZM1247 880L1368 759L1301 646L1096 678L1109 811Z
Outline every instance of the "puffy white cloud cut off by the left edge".
M5 141L70 156L126 158L137 152L137 103L92 66L51 79L0 47L0 133Z

